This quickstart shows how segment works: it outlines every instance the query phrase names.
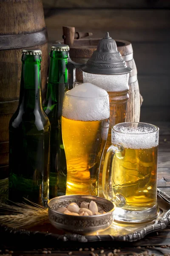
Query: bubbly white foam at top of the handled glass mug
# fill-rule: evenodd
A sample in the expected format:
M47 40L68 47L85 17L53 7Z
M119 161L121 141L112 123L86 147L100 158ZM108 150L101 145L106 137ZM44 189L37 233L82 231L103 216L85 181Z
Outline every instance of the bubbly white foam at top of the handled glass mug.
M122 123L112 129L112 144L125 148L153 148L159 143L159 128L145 123Z

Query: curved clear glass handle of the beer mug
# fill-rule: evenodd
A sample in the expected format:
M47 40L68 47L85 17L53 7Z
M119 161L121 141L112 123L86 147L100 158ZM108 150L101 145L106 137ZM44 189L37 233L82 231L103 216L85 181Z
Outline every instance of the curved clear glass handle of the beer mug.
M102 172L102 189L106 199L115 203L117 207L123 207L126 204L124 196L119 193L115 194L113 191L114 181L112 176L114 172L115 152L120 154L120 158L124 157L124 148L122 145L115 144L108 148Z

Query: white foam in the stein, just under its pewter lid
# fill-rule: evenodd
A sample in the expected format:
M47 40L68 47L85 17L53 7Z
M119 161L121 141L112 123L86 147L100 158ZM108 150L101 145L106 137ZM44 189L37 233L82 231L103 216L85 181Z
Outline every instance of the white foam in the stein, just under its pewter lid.
M129 90L129 73L123 75L98 75L83 72L83 82L89 82L106 90L107 92L119 92Z

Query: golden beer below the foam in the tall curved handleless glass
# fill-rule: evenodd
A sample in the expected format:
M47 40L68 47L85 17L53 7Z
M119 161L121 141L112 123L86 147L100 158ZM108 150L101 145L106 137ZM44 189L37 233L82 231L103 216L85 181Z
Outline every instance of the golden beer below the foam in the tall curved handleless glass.
M99 164L108 133L108 120L79 121L62 116L67 160L66 195L96 195Z

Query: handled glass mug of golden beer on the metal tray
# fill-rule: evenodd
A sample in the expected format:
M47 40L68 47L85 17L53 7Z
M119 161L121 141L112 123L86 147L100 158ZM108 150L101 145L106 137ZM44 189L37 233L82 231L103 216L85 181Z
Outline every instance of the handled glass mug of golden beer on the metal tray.
M126 122L113 126L102 188L105 198L123 206L114 211L115 220L146 222L157 217L158 143L155 125Z

